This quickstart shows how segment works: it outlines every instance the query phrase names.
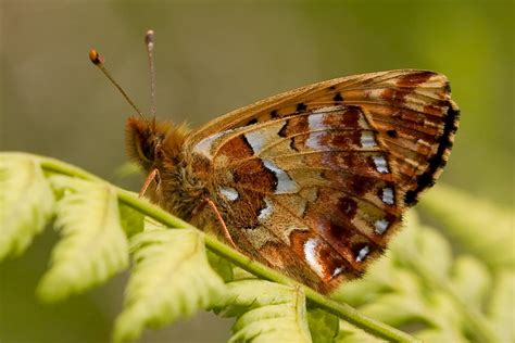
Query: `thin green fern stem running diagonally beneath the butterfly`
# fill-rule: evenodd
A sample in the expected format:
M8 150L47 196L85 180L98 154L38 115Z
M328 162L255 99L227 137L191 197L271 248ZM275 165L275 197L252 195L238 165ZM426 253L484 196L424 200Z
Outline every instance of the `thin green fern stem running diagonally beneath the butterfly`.
M23 158L33 158L39 162L43 170L50 173L62 174L71 177L77 177L95 182L102 182L105 185L110 185L116 190L117 196L120 202L130 206L131 208L166 225L171 228L190 228L197 229L196 227L189 225L188 223L174 217L169 213L165 212L164 209L151 204L145 199L139 199L137 194L123 190L118 187L115 187L108 181L65 162L45 157L39 155L33 155L27 153L1 153L4 156L12 156L12 157L23 157ZM199 230L199 229L197 229ZM247 271L255 275L259 278L266 279L269 281L289 284L289 285L297 285L301 287L304 290L306 298L312 303L327 310L328 313L338 316L339 318L356 326L357 328L374 334L378 338L386 339L388 341L393 342L419 342L416 338L400 331L395 328L392 328L386 323L377 321L375 319L368 318L363 314L359 313L353 307L349 306L344 303L339 303L334 300L330 300L327 296L322 295L321 293L314 291L313 289L300 284L297 281L286 277L285 275L268 268L251 258L247 257L246 255L233 250L230 246L219 242L214 237L203 234L205 240L205 245L209 250L213 253L217 254L221 257L229 261L230 263L246 269Z

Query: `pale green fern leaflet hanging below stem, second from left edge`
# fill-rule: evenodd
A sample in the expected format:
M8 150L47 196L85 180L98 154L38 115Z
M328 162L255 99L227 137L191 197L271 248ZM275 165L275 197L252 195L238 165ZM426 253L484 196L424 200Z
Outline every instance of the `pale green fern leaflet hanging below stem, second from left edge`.
M53 176L62 191L55 227L62 239L52 251L51 267L38 285L47 302L60 301L102 283L128 265L128 243L111 187Z

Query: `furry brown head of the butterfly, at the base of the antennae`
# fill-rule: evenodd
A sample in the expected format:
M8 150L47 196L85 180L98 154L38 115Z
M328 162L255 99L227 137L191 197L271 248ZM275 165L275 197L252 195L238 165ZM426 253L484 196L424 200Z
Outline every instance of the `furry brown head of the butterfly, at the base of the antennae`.
M188 129L169 122L129 117L126 125L127 154L143 170L160 168L163 163L176 165L181 160L181 147Z

